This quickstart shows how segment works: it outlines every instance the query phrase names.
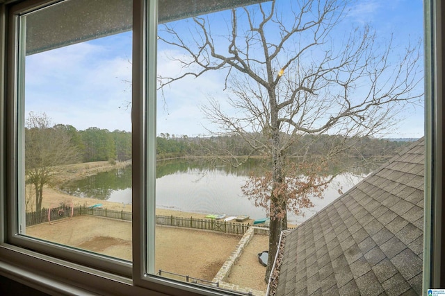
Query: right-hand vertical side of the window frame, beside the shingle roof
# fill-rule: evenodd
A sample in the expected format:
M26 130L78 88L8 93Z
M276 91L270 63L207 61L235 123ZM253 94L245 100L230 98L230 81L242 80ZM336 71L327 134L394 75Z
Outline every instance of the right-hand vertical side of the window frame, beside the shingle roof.
M425 215L423 229L423 291L445 286L444 190L444 61L445 6L423 3L425 55Z

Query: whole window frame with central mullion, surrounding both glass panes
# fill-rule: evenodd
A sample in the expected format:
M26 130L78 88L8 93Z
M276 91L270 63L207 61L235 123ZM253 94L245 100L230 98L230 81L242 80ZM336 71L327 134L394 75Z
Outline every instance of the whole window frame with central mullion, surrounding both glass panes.
M49 294L227 295L217 289L182 284L148 275L154 272L154 185L156 167L156 28L157 1L133 0L133 264L88 252L73 251L23 238L17 229L19 139L11 132L17 118L14 77L18 57L17 17L54 1L3 1L0 4L0 275ZM425 1L426 67L426 215L423 290L444 286L442 240L442 38L445 8L440 0ZM13 42L13 43L11 43ZM135 62L136 61L136 62ZM9 112L9 113L8 113ZM10 113L12 112L12 113ZM9 118L6 120L6 118ZM138 198L138 196L147 196ZM137 209L137 210L136 210ZM233 293L236 294L236 293Z

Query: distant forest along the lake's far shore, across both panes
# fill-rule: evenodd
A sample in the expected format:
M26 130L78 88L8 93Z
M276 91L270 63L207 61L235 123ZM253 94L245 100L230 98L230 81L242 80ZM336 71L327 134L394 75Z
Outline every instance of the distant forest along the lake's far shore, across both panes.
M66 130L70 134L72 144L79 150L83 162L126 161L131 159L131 132L88 128L76 130L72 125L55 125L54 128ZM261 141L261 134L258 135ZM305 155L323 155L338 141L344 141L348 148L344 155L348 157L391 157L409 141L404 139L373 139L369 137L344 139L338 136L320 135L302 136L289 147L289 155L302 157ZM175 134L161 133L156 137L157 155L159 159L207 156L262 156L264 151L252 153L249 144L239 136L225 135L218 137L177 137Z

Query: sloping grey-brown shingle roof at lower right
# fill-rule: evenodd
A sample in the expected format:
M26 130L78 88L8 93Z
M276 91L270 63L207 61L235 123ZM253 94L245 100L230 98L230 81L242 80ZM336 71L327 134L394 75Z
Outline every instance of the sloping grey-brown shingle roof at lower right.
M276 295L420 295L425 141L286 235Z

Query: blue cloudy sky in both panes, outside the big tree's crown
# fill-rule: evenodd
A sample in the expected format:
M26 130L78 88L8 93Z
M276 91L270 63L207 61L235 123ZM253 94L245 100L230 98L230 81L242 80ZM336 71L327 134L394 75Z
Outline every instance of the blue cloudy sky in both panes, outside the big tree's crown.
M342 30L371 24L378 36L388 40L392 33L395 48L404 48L409 40L423 37L422 10L421 0L359 0L348 7ZM187 33L186 22L175 26ZM344 37L334 34L338 39ZM159 73L179 73L178 64L168 57L183 53L161 42L158 48ZM54 124L69 124L78 130L131 130L131 32L29 55L25 64L25 114L45 112ZM158 134L209 134L212 128L201 107L213 98L229 108L224 78L224 73L213 71L197 79L184 78L159 92ZM385 137L423 136L422 104L406 107L399 115L398 125Z

